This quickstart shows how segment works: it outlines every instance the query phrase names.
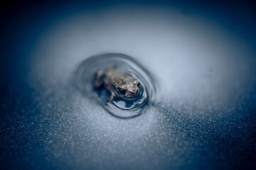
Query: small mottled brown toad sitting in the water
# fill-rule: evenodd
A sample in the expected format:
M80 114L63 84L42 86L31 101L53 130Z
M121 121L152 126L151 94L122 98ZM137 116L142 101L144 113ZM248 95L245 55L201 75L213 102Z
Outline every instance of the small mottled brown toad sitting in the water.
M122 69L106 69L105 72L96 72L92 84L96 89L105 88L110 91L110 101L114 96L133 98L139 94L139 80Z

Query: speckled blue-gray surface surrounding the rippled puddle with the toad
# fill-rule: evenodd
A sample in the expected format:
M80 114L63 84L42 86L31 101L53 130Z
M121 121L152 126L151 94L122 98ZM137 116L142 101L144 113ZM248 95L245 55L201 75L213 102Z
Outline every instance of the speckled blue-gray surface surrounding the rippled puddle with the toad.
M255 4L11 1L0 30L1 169L255 168ZM75 89L80 62L105 52L159 83L138 118Z

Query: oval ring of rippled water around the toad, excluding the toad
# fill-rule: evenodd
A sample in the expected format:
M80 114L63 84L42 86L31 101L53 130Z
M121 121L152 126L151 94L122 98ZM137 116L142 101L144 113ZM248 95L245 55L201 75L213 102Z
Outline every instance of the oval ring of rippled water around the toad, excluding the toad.
M139 80L139 92L136 96L125 97L111 93L106 86L95 89L92 83L97 72L105 73L110 69L119 69ZM136 60L128 55L108 53L96 55L83 61L75 73L75 85L86 97L96 100L109 113L119 118L132 118L142 113L143 108L156 96L156 81ZM114 98L110 100L111 94Z

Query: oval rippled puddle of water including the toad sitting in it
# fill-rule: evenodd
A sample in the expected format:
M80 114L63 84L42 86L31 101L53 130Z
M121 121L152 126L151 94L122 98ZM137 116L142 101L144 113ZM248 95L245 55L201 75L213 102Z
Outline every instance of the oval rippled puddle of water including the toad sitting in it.
M95 55L83 61L75 73L75 85L119 118L141 114L157 91L149 71L132 57L119 53Z

